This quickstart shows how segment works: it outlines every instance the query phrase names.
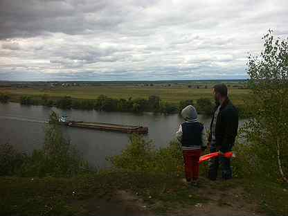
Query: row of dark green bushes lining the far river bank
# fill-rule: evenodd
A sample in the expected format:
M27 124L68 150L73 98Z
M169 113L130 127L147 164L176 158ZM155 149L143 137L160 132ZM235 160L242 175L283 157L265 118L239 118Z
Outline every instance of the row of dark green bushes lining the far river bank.
M3 93L0 94L0 102L8 102L10 97ZM21 105L44 105L46 107L57 107L60 109L95 109L97 111L125 111L125 112L143 112L152 111L161 114L180 113L181 110L193 105L197 108L199 114L211 115L215 107L209 98L199 98L197 100L180 100L178 103L165 102L159 96L149 96L146 98L109 98L104 95L96 99L79 99L64 96L62 98L51 98L46 94L42 96L21 96L19 98ZM242 118L249 117L244 105L238 105Z

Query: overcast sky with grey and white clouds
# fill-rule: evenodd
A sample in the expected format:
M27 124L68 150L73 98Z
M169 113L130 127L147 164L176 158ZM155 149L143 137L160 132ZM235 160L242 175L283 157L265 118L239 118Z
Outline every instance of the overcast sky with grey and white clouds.
M0 80L247 78L288 1L0 0Z

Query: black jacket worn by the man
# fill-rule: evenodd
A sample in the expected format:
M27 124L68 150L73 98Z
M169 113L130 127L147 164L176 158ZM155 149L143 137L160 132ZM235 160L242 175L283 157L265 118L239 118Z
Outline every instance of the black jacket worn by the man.
M212 125L217 107L218 106L215 107L211 120L208 141L211 141L212 139ZM221 152L228 152L233 147L238 131L238 120L238 111L227 98L220 107L215 125L216 147L218 147Z

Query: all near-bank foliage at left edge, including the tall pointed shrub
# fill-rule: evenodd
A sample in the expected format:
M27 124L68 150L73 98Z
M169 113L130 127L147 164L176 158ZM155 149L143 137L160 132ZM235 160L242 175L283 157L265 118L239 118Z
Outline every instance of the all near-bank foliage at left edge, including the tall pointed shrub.
M71 177L90 171L93 171L92 168L83 161L78 150L64 138L55 112L51 113L45 129L42 150L34 150L27 155L20 154L8 143L0 145L0 176Z

